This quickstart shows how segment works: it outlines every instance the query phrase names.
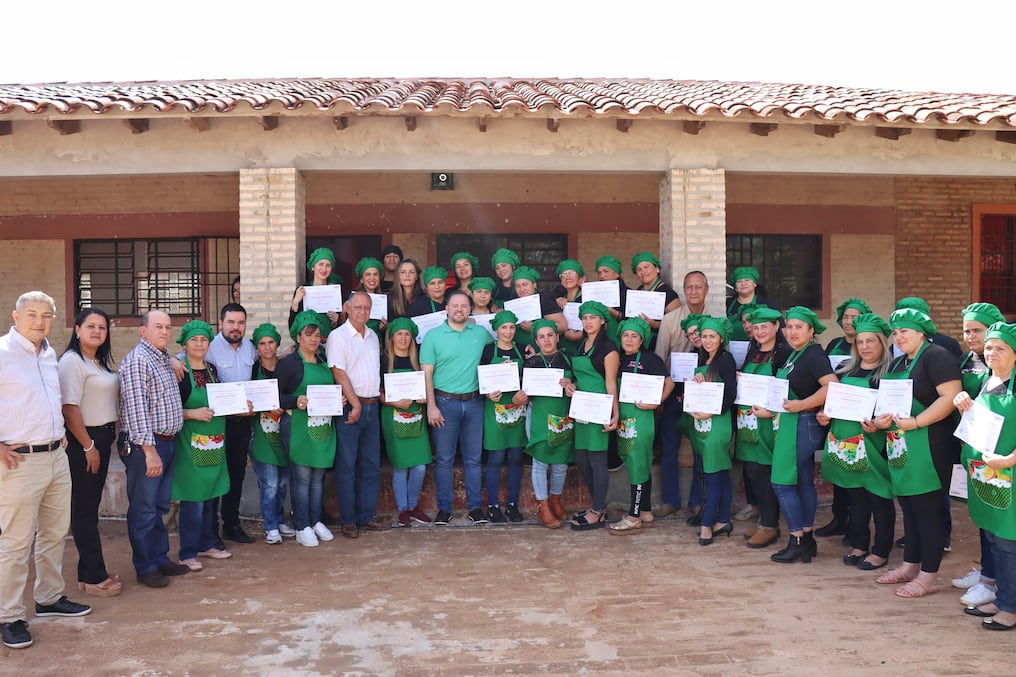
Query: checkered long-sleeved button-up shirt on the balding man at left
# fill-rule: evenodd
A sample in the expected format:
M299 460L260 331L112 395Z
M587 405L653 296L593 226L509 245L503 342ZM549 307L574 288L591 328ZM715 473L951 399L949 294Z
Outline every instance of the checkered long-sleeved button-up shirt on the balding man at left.
M180 388L170 354L142 338L120 363L120 427L131 442L154 446L155 435L176 435L184 425Z

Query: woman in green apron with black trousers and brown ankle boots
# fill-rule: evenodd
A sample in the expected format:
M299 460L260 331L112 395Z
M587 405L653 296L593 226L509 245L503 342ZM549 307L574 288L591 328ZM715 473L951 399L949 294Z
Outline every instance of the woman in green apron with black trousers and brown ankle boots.
M773 376L776 367L790 356L790 349L780 331L783 314L775 308L756 306L751 314L752 342L742 371L746 374ZM745 484L758 500L759 521L745 538L749 548L765 548L779 539L779 501L772 490L772 413L764 407L737 405L737 435L734 457L742 463ZM746 491L747 493L747 491Z

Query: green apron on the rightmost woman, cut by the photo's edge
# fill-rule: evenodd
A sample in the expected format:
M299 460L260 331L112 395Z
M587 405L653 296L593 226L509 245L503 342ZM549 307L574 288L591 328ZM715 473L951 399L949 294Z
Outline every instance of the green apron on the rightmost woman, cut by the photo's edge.
M976 402L1005 417L997 453L1007 454L1016 448L1016 398L1013 379L1004 395L981 392ZM967 506L970 519L980 529L999 538L1016 541L1016 504L1013 503L1013 469L989 468L980 452L969 444L963 445L963 465L967 468Z

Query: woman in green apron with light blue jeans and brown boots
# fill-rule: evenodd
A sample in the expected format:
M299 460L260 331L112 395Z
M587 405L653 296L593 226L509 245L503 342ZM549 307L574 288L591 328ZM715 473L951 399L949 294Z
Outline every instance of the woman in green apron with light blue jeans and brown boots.
M529 397L526 416L528 442L525 452L532 456L532 493L536 498L539 524L557 529L568 516L561 494L565 490L568 464L575 459L575 421L568 417L572 386L571 360L558 350L558 327L549 319L532 322L539 353L525 361L525 369L562 369L561 396ZM547 474L550 472L550 486Z

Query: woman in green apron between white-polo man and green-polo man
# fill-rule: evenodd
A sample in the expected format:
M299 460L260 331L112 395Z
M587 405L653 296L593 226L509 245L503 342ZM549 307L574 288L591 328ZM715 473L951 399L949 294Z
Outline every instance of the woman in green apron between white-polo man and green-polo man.
M420 371L417 335L420 329L408 317L388 323L381 368L386 374ZM431 517L418 507L427 465L433 460L427 429L427 398L389 402L381 387L381 434L391 460L391 488L398 508L398 526L430 524Z

